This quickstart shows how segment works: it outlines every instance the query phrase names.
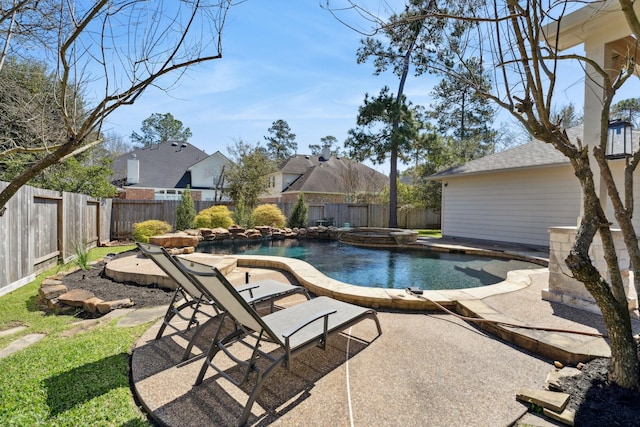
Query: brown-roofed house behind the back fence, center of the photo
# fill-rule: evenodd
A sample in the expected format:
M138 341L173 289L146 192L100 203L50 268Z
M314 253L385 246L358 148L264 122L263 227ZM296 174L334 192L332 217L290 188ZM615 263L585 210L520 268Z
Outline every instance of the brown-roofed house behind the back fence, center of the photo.
M304 193L307 203L358 203L389 185L389 178L362 163L335 157L295 155L269 175L265 203L295 203Z

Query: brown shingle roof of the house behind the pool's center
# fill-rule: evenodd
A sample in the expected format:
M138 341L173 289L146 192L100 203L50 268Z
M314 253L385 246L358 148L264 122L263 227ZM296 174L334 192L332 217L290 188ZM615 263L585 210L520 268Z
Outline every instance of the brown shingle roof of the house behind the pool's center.
M387 176L375 169L335 156L325 161L318 156L293 156L281 164L280 171L300 175L283 192L368 192L389 182Z

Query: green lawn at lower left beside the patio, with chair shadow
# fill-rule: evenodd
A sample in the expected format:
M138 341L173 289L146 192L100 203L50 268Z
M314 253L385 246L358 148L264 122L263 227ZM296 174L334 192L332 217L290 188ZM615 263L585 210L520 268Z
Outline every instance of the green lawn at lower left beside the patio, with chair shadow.
M89 259L133 246L97 248ZM72 316L47 315L36 307L40 283L59 266L0 298L0 330L26 329L0 338L0 348L31 333L44 339L0 359L0 425L2 426L149 426L129 388L129 355L149 325L115 326L117 320L70 337Z

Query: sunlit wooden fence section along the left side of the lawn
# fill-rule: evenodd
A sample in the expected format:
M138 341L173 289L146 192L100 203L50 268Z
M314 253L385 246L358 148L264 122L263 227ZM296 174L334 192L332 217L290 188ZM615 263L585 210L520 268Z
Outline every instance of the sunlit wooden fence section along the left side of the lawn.
M0 190L8 183L0 181ZM0 216L0 295L75 257L77 245L109 241L111 200L24 186Z

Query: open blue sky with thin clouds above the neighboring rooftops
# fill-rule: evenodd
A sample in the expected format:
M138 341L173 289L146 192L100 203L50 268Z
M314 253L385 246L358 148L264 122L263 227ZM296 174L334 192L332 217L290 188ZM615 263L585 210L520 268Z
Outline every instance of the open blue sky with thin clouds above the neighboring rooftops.
M327 135L341 145L355 127L365 93L375 95L384 85L396 92L397 78L391 72L374 76L371 63L358 64L364 36L338 22L320 1L248 0L233 6L222 59L189 70L169 93L149 90L114 113L104 130L128 140L151 114L171 113L191 129L193 145L208 154L227 154L240 139L264 144L269 127L282 119L296 134L299 154L308 154L308 145ZM375 8L383 2L368 3ZM351 15L357 23L354 19ZM575 71L564 74L565 100L558 102L573 101L581 109L584 78ZM411 78L405 94L428 107L438 80ZM508 119L502 117L496 126ZM374 167L388 174L388 165Z

